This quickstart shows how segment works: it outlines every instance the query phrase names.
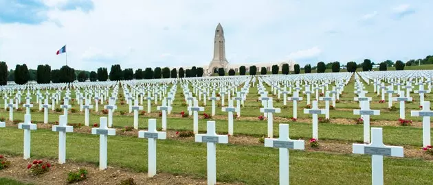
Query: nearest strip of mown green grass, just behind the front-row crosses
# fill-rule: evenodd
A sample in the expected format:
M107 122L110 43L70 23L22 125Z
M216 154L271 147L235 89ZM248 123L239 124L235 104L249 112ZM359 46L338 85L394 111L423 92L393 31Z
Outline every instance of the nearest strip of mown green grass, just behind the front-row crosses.
M1 130L0 152L22 154L23 132ZM47 130L32 132L32 158L57 158L58 135ZM67 135L67 159L98 164L98 136ZM109 165L147 171L147 141L110 136ZM278 149L261 146L217 145L217 179L221 182L278 184ZM370 157L322 152L290 152L292 184L371 184ZM428 184L433 164L408 158L385 158L388 184ZM179 140L158 140L157 169L206 178L206 145Z

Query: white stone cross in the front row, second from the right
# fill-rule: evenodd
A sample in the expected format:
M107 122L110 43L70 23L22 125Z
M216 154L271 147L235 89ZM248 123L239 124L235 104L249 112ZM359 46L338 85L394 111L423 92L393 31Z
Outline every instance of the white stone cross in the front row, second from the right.
M304 150L304 140L289 138L289 125L280 124L280 138L265 138L265 147L278 148L280 151L280 184L289 185L289 149Z

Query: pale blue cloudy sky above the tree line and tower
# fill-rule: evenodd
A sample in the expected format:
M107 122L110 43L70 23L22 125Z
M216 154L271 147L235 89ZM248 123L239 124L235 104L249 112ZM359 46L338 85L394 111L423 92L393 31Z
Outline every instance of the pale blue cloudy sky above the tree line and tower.
M433 1L0 0L0 61L96 71L203 66L216 25L232 64L433 55Z

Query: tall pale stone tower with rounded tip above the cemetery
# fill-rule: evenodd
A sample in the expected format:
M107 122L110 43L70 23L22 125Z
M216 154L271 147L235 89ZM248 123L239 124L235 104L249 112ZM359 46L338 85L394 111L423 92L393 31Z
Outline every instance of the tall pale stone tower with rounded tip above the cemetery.
M224 30L220 23L216 26L215 29L215 38L214 38L214 58L210 61L208 68L208 75L211 75L214 70L218 70L219 68L224 68L227 73L227 59L225 58L225 39L224 39Z

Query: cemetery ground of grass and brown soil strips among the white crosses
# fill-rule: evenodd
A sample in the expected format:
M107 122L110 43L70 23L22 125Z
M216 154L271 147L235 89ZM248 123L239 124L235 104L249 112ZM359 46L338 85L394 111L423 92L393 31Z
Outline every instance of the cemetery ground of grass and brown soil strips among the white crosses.
M424 65L427 66L427 65ZM302 101L298 101L297 119L294 121L293 101L287 100L287 105L283 103L283 95L273 95L272 88L269 84L263 83L264 89L273 98L274 108L280 108L280 113L274 113L274 123L272 125L274 138L279 137L280 123L289 124L289 136L293 140L305 140L305 150L290 150L290 182L291 184L371 184L371 156L358 155L352 153L353 143L364 142L364 125L357 123L359 115L353 114L353 110L359 110L359 101L354 98L359 95L354 90L359 83L355 83L355 75L344 85L344 90L340 94L340 101L335 105L335 109L329 110L330 119L326 120L324 114L320 114L318 124L319 147L313 148L309 144L312 138L312 114L304 114L307 106L307 95L302 94ZM388 94L385 95L385 102L379 103L381 95L374 92L373 82L367 84L365 81L359 81L368 91L364 96L371 97L369 101L371 110L380 110L380 115L370 116L370 127L383 128L383 140L386 145L404 147L404 158L385 157L384 158L384 181L386 184L429 184L433 182L431 171L433 169L433 156L425 153L423 147L423 124L422 117L410 116L411 110L420 110L419 94L412 91L410 96L414 101L404 103L406 119L411 120L410 125L401 125L399 119L399 101L392 101L392 110L388 109ZM193 83L189 83L188 89L194 92ZM355 85L356 84L356 85ZM278 167L279 152L278 149L264 147L263 139L267 137L267 119L260 121L258 116L263 115L260 108L263 108L260 98L260 90L250 83L246 95L244 106L241 107L241 116L234 118L234 134L228 136L228 144L216 144L216 179L218 182L225 184L278 184ZM119 85L118 85L119 86ZM157 140L157 176L147 179L148 171L148 140L138 138L138 130L148 129L148 119L157 119L157 128L162 128L162 116L157 110L161 106L161 100L157 103L151 101L151 112L147 110L147 100L143 99L139 110L138 130L126 129L133 126L134 113L129 113L129 106L126 94L122 88L118 87L117 109L113 113L113 128L116 136L108 136L108 165L113 169L122 169L129 171L128 174L142 176L142 180L148 183L154 182L159 184L170 184L167 178L174 178L177 175L182 176L182 180L174 180L181 184L196 182L197 184L206 184L206 144L196 143L193 134L191 136L179 136L179 132L188 133L193 130L193 116L181 116L181 112L188 114L188 103L185 101L184 88L179 84L173 86L168 84L167 89L175 89L175 100L171 104L173 110L167 115L167 139ZM240 90L244 84L238 84L236 91ZM429 88L427 84L423 86ZM414 90L418 90L415 86ZM110 95L113 92L110 89ZM331 86L329 88L331 90ZM406 90L403 89L402 90ZM82 93L83 89L80 90ZM320 91L320 90L319 90ZM326 91L326 90L325 90ZM56 93L56 90L49 90L50 94ZM98 173L99 162L99 137L91 134L93 124L98 124L101 116L108 116L104 111L104 106L108 102L103 101L99 105L98 112L95 108L89 110L89 126L85 126L85 113L80 112L80 106L77 103L76 92L71 90L71 108L67 114L69 125L74 126L74 132L67 133L66 143L66 164L54 164L54 167L79 167L85 165L93 168L94 173ZM17 129L17 123L23 123L25 108L25 93L21 96L21 110L13 112L14 121L8 121L9 111L3 109L3 101L0 100L0 119L5 119L5 128L0 128L0 154L18 158L23 156L23 130ZM32 91L30 90L30 93ZM41 90L45 94L45 90ZM65 93L65 91L63 91ZM65 96L65 95L63 95ZM62 97L63 97L62 96ZM209 95L210 96L210 95ZM208 97L209 97L208 96ZM291 97L292 94L287 95ZM320 95L318 97L324 97ZM395 97L393 94L392 97ZM32 155L31 159L47 159L56 162L58 158L58 133L52 132L52 126L58 125L59 116L63 115L63 110L52 111L49 108L48 123L44 124L43 110L38 110L36 95L32 93L31 108L32 123L38 125L38 130L32 130ZM208 98L206 97L206 98ZM231 96L235 97L235 94ZM195 98L201 99L199 106L204 107L204 111L199 112L198 132L206 134L207 121L216 122L216 133L227 135L227 112L221 110L227 106L227 95L225 95L225 106L221 105L221 100L215 103L215 115L212 118L205 119L203 113L212 114L212 101L203 103L203 97L195 95ZM219 98L222 98L219 95ZM311 101L316 99L315 93L311 94ZM425 101L432 101L433 95L425 95ZM140 102L140 99L138 99ZM56 108L64 102L56 103ZM91 101L94 105L95 101ZM51 104L51 100L49 101ZM330 103L332 105L332 103ZM236 102L234 102L236 106ZM318 107L324 108L325 102L318 101ZM236 115L236 112L234 113ZM432 132L430 132L432 133ZM430 139L431 140L431 139ZM25 167L23 167L24 169ZM55 171L54 169L53 171ZM110 169L109 169L110 171ZM51 173L51 172L49 172ZM50 175L50 174L47 175ZM58 174L57 174L58 175ZM8 177L0 173L0 177ZM58 175L60 179L65 177ZM14 177L20 179L20 177ZM23 177L28 180L29 177ZM114 180L114 177L107 177L112 182L118 182L120 178ZM170 179L169 178L169 179ZM2 182L0 178L0 184ZM7 181L7 180L5 180Z

